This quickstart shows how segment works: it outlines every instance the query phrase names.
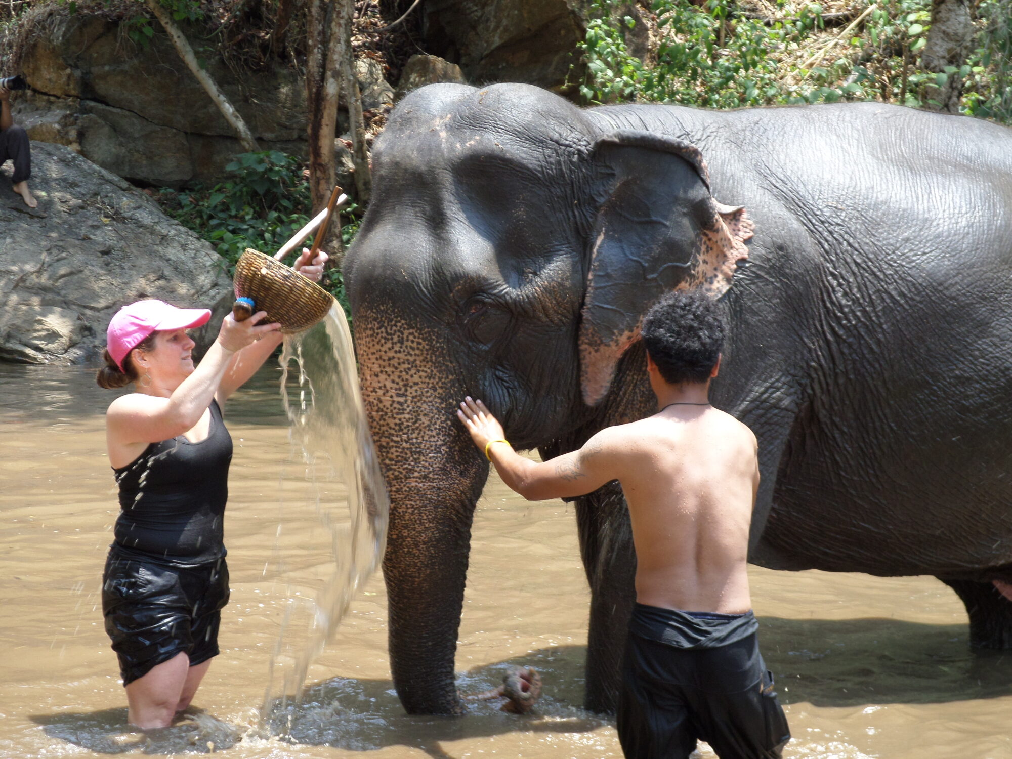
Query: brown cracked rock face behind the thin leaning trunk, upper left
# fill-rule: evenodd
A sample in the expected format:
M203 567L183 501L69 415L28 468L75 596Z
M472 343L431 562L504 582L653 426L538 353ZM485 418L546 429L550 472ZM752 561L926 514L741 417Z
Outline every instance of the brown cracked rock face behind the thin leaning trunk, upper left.
M55 17L24 55L28 82L15 122L33 140L67 145L133 181L179 186L213 180L243 148L207 93L160 31L145 49L98 16ZM306 89L277 68L241 77L221 60L207 70L262 150L306 154ZM393 102L381 64L359 61L363 108ZM43 93L43 94L39 94Z

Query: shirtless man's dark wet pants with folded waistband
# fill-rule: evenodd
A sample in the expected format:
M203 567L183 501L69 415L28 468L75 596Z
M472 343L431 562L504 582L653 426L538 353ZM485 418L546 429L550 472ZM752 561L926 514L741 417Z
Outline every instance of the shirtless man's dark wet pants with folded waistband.
M726 635L728 625L737 632ZM751 612L693 615L638 603L618 703L625 756L685 759L702 740L721 759L778 759L790 733L756 626Z

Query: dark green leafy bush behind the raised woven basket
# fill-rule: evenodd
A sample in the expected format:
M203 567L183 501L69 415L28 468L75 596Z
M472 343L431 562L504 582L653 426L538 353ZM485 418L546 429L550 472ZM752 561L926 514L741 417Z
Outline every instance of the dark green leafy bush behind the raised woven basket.
M173 219L209 241L231 277L246 248L271 254L309 221L309 182L293 156L277 151L241 153L226 166L233 178L214 186L193 183L183 190L162 189L156 199ZM342 208L341 237L349 245L358 231L358 206ZM304 244L309 247L312 237ZM294 254L292 254L292 257ZM321 284L348 311L340 269L324 272Z

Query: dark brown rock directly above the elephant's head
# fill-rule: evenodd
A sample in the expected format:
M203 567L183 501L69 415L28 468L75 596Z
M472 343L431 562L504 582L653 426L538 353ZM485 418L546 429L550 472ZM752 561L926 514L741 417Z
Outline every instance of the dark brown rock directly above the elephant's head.
M559 90L586 32L587 0L427 0L423 31L432 53L458 63L469 81L526 82Z

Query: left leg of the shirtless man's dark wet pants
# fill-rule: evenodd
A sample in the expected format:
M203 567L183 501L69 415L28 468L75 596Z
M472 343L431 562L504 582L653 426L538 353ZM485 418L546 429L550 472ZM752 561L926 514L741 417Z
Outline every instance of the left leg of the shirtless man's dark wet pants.
M677 653L637 636L626 640L616 721L626 759L687 759L695 750L681 687L669 681L672 666L667 660Z

